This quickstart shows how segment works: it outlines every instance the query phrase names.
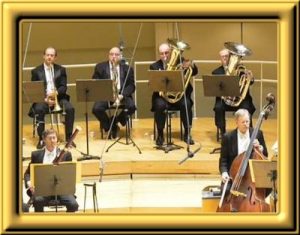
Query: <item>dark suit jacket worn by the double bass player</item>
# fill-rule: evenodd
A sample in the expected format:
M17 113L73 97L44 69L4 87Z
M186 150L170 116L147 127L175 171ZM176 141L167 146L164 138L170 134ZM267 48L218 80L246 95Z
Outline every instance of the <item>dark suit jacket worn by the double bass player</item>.
M249 129L250 136L252 135L253 128ZM268 150L261 130L258 131L257 137L260 145L264 147L263 155L268 156ZM237 129L224 134L221 144L221 157L219 160L219 171L222 174L224 171L229 173L232 161L238 155L237 143Z

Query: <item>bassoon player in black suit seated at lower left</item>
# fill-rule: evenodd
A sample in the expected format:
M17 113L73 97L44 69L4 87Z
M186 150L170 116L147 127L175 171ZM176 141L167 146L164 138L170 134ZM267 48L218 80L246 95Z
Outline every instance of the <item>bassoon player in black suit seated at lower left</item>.
M32 187L30 182L30 164L52 164L53 160L56 158L56 156L59 155L60 151L57 148L57 133L55 130L45 130L42 137L45 143L45 148L33 151L31 153L31 162L29 163L24 173L25 187L31 192L31 194L34 194L34 188ZM72 161L71 153L66 152L61 161ZM44 206L47 206L50 200L54 200L55 196L34 196L33 198L33 207L35 212L43 212ZM78 210L79 205L74 195L58 195L58 200L60 204L67 207L67 212L75 212Z

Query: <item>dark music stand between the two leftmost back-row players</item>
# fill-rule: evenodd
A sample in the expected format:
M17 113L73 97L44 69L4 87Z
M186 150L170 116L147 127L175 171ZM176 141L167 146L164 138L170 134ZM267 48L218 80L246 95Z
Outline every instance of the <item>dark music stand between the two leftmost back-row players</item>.
M76 80L77 101L85 102L85 124L86 124L86 147L87 153L82 153L83 157L77 161L100 159L98 156L89 154L88 135L88 102L99 100L113 101L113 81L111 79L77 79Z

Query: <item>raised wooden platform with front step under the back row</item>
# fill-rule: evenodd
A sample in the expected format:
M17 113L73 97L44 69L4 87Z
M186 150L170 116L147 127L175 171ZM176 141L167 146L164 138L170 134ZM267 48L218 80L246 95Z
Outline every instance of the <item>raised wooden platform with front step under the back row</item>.
M230 120L229 120L230 119ZM254 124L256 120L254 119ZM71 149L73 159L76 161L87 153L85 122L76 122L76 126L82 127L75 139L76 149ZM211 174L218 175L219 153L210 152L220 146L216 140L216 127L213 118L196 118L193 120L192 136L195 145L190 146L190 151L201 148L193 158L184 163L179 161L187 156L187 145L180 140L179 118L172 119L172 140L174 144L183 148L165 153L155 149L153 140L153 119L133 119L132 139L140 148L139 153L133 144L124 145L116 143L108 152L106 149L113 143L113 140L100 138L99 123L89 122L89 154L101 157L99 160L85 160L81 163L81 175L98 176L100 168L103 168L104 175L118 174ZM227 130L234 128L233 118L227 120ZM264 132L269 156L272 156L271 147L277 140L277 119L264 121L261 129ZM60 137L64 139L63 125L60 125ZM125 127L121 127L120 135L124 136ZM106 135L104 136L106 138ZM23 157L30 158L31 151L36 149L37 137L32 136L32 125L23 126ZM121 141L124 142L125 138ZM63 143L61 144L63 146ZM23 161L23 168L28 165L28 160Z

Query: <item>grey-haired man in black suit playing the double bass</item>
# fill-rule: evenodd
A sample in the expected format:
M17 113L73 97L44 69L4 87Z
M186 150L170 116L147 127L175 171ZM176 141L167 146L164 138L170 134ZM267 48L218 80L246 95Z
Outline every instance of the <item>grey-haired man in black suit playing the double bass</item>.
M253 128L250 127L250 114L246 109L239 109L235 112L235 122L236 129L225 133L222 138L219 171L223 182L229 178L229 171L235 157L247 150L253 133ZM268 156L264 135L261 130L258 130L253 147L258 148L265 157Z

